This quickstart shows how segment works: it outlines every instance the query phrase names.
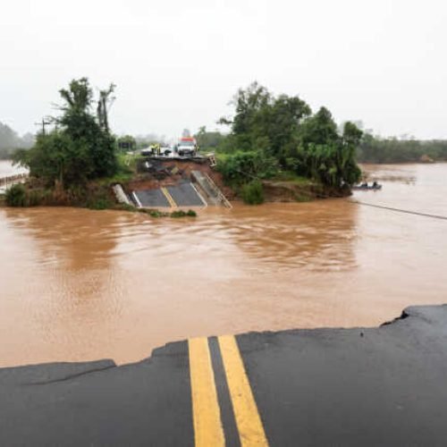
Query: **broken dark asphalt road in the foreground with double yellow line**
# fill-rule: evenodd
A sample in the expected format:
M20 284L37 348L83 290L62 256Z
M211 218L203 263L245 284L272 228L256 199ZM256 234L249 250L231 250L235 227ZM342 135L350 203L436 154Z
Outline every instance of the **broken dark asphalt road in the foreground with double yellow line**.
M445 445L447 306L0 369L0 445Z

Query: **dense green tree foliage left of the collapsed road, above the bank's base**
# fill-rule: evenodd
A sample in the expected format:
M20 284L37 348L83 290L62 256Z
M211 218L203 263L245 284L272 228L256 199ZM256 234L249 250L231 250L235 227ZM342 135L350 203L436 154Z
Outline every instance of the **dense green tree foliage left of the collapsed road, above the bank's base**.
M106 101L100 98L101 115L92 114L93 91L86 78L72 80L60 94L64 103L62 115L53 118L55 130L40 133L34 147L20 151L15 160L27 166L32 177L63 189L114 175L115 141L105 121Z

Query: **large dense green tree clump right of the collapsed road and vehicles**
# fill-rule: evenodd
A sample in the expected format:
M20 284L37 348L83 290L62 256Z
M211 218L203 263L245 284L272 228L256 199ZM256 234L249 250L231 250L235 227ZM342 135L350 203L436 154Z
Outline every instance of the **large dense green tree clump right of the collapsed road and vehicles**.
M355 153L362 131L351 122L338 132L332 114L316 114L299 97L274 97L256 82L240 89L233 104L230 135L218 149L228 154L221 164L227 181L252 181L290 171L339 189L358 181Z

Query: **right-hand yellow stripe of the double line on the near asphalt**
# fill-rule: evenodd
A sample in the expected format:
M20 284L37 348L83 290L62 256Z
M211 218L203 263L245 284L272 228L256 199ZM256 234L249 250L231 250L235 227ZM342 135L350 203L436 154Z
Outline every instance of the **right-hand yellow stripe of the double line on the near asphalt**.
M240 444L242 447L268 446L236 339L232 335L223 335L219 337L219 346L239 430Z

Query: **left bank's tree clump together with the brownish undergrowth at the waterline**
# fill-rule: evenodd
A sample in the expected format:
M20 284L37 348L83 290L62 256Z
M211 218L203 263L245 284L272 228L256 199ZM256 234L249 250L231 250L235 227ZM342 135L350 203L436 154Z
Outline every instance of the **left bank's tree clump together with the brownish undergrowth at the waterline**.
M116 155L109 129L114 84L100 90L96 99L87 78L72 80L59 93L63 104L61 114L50 119L53 130L38 133L32 148L14 154L14 162L30 170L30 180L8 190L6 204L114 207L111 182L131 177L124 155Z

